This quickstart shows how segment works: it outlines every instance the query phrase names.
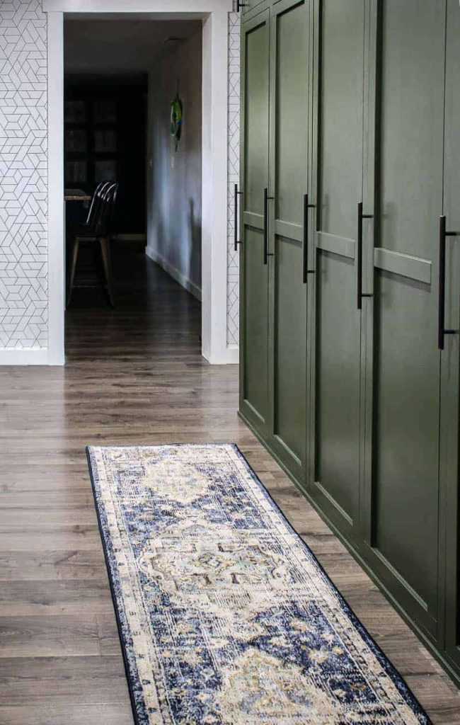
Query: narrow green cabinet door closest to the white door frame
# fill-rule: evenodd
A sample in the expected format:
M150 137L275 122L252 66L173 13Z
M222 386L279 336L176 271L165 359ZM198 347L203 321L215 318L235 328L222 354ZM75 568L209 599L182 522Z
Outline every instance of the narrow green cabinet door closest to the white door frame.
M269 183L269 10L242 25L240 411L268 431L268 265L264 188Z

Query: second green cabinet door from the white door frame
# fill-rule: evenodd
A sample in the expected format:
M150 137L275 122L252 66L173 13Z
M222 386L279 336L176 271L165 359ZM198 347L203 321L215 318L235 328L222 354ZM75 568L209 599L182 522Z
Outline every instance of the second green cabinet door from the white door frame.
M309 0L280 0L270 11L270 447L299 483L306 479L309 15Z

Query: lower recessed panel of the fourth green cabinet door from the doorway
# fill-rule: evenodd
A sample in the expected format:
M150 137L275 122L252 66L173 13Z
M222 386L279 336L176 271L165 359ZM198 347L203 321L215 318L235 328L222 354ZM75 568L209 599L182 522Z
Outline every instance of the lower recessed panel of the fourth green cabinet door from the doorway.
M373 547L424 605L438 576L439 353L430 286L377 273ZM433 310L432 308L435 307Z

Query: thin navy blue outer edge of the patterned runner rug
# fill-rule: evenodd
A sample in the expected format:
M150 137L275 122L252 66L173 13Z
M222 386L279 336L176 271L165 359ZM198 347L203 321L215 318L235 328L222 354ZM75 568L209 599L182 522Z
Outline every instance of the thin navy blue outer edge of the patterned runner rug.
M340 593L338 588L335 586L332 579L330 579L330 576L327 573L327 571L325 571L325 568L322 566L321 563L319 563L317 556L314 554L314 552L311 551L310 547L306 544L306 542L304 542L304 539L302 539L301 535L298 534L298 531L296 531L296 529L294 529L292 524L289 523L288 519L285 517L285 514L280 509L279 505L277 505L277 502L275 501L275 499L272 497L272 494L270 494L268 489L264 486L264 484L262 484L262 481L259 479L259 476L257 476L256 472L251 467L251 464L248 462L246 456L243 454L243 452L241 452L240 448L238 447L238 445L236 443L233 443L233 442L163 443L163 444L159 443L159 444L150 444L150 445L142 444L142 445L138 445L138 446L133 445L133 444L129 444L129 445L125 445L125 446L120 445L120 444L118 444L116 446L107 445L107 444L105 444L105 445L100 445L100 444L99 445L88 445L85 448L85 452L86 452L86 457L88 460L88 469L89 469L89 475L90 475L90 479L91 479L91 488L93 489L94 508L96 509L96 516L97 516L97 521L98 521L98 526L99 526L99 534L101 536L102 548L104 550L104 559L105 559L105 563L106 563L107 575L109 577L110 593L112 595L112 603L114 606L115 618L117 620L118 635L120 637L120 645L121 645L121 649L122 649L123 663L125 666L127 687L128 687L128 691L130 693L131 708L133 710L133 718L134 718L135 725L143 725L143 724L139 720L138 703L136 703L136 700L135 700L134 683L133 683L133 679L132 679L132 675L131 675L130 663L129 663L128 653L127 653L127 643L125 642L125 635L122 630L122 622L120 619L120 612L119 612L118 605L117 605L117 597L115 595L114 582L112 579L112 566L111 566L111 562L109 559L109 552L108 552L107 544L106 544L106 536L104 533L104 528L102 526L101 511L99 510L98 500L97 500L97 496L96 496L96 485L94 482L95 471L93 471L93 468L96 468L96 466L95 465L93 466L93 462L91 460L91 448L110 448L110 449L120 448L120 449L127 449L127 450L129 450L129 449L135 450L138 448L161 448L161 447L178 448L178 447L187 447L187 446L189 446L189 447L230 446L233 448L233 450L235 450L235 452L238 454L238 457L240 457L240 459L243 461L243 463L246 467L246 470L248 471L248 473L251 476L251 479L254 481L256 486L259 487L259 490L262 492L265 499L268 500L270 502L270 504L272 505L272 507L277 511L277 513L279 513L279 515L283 519L283 522L285 523L285 526L301 542L302 547L304 547L306 552L308 552L308 554L310 555L311 559L314 561L314 563L317 566L317 568L319 569L319 571L322 573L322 575L325 577L326 581L333 588L335 594L338 597L338 600L343 609L343 612L345 612L348 615L348 617L351 620L351 623L354 625L356 630L359 631L359 634L361 634L361 637L364 639L364 642L366 642L368 647L375 654L377 660L379 660L379 662L380 662L380 665L385 670L386 674L388 674L390 679L393 681L393 684L395 684L396 688L398 689L398 692L400 692L403 699L406 701L406 704L412 708L412 710L414 711L414 713L416 715L422 716L422 718L425 718L425 723L423 723L422 725L433 725L432 721L427 716L425 709L422 708L422 705L419 703L419 700L417 700L417 697L415 697L415 695L411 691L409 685L403 679L403 676L401 674L399 674L396 667L390 662L387 655L385 655L385 653L383 652L381 647L379 645L377 645L377 642L375 642L375 639L372 637L371 634L369 634L369 631L367 631L364 624L362 624L361 620L359 620L359 618L356 616L354 611L348 605L345 598ZM391 605L389 604L389 606L391 606Z

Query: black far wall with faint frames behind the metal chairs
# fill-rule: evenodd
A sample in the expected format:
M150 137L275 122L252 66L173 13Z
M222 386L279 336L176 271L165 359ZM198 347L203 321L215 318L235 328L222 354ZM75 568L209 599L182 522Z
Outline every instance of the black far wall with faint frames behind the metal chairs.
M99 181L118 181L113 231L126 239L146 234L146 99L146 76L64 80L65 186L92 194ZM86 210L73 206L80 220Z

